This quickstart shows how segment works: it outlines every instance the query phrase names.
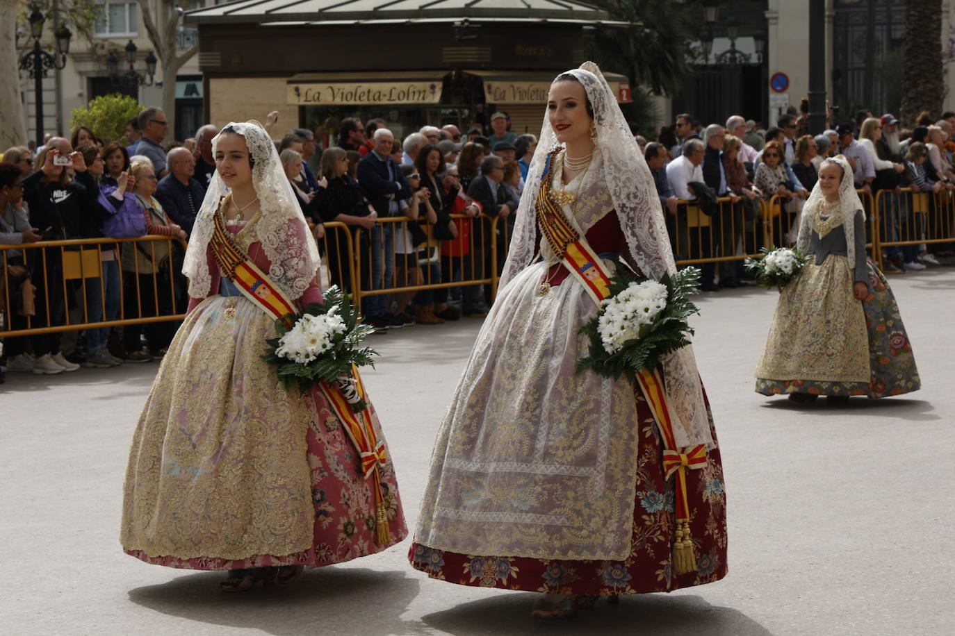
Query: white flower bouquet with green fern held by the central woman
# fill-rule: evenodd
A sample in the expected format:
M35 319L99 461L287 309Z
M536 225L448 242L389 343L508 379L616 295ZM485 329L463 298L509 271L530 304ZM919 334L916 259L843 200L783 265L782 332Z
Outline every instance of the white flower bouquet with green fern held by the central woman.
M657 281L618 269L610 278L610 297L581 328L590 347L578 360L577 372L633 381L641 369L656 368L661 357L690 344L693 330L687 318L699 310L689 297L696 292L700 271L688 267Z

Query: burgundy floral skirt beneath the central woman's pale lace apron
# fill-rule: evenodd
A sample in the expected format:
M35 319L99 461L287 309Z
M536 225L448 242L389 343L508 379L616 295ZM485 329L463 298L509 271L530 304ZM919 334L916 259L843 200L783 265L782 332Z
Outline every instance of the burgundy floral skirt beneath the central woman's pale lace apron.
M637 402L638 421L652 421L647 402ZM710 418L712 430L712 418ZM716 439L715 431L713 440ZM640 431L630 556L624 561L564 561L517 555L458 554L414 543L408 558L429 577L458 585L502 587L556 594L644 594L703 585L726 576L726 492L719 449L707 465L687 471L690 536L696 570L674 575L674 480L664 479L663 445L655 424Z

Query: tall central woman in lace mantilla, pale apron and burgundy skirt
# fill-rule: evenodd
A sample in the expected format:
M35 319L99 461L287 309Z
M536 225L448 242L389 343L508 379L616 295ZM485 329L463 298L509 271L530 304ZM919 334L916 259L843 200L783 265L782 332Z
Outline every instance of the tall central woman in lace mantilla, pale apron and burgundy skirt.
M499 295L438 432L409 558L442 581L545 592L534 614L559 618L598 596L716 581L727 538L719 450L690 347L660 367L675 445L699 449L679 532L644 392L575 373L589 342L581 326L598 305L542 236L556 218L541 223L542 211L559 210L611 272L617 256L650 277L676 270L653 177L600 70L588 62L563 73L548 99Z

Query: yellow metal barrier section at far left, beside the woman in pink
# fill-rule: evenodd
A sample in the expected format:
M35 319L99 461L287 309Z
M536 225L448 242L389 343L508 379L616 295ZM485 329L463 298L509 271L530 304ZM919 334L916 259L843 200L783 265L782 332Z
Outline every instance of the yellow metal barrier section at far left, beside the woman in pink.
M0 245L0 338L181 320L187 299L180 274L184 245L169 236ZM118 270L116 319L108 318L103 293L103 255L111 251ZM130 270L123 269L123 253ZM23 291L24 268L32 294ZM100 318L91 319L91 313Z

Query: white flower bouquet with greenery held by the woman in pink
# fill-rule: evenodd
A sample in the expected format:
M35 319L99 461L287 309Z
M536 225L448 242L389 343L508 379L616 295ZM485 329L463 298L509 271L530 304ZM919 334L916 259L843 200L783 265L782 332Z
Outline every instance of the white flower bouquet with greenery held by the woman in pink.
M358 322L357 312L337 286L329 287L324 296L324 303L309 304L301 316L278 318L278 338L265 340L265 359L279 367L286 388L293 381L303 393L322 381L344 387L353 366L374 366L372 357L378 352L359 346L371 327ZM349 401L355 413L366 406L364 400Z

